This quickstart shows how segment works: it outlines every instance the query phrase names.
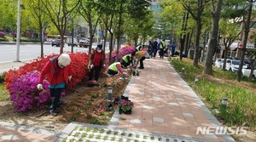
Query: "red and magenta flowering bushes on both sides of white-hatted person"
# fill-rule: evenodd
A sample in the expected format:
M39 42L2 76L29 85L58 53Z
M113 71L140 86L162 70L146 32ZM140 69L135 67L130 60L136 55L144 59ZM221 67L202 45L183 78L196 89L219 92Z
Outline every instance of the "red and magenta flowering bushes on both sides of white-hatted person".
M4 83L11 94L11 100L14 101L16 111L28 111L34 108L42 108L43 105L49 101L49 89L44 89L44 94L48 94L47 98L38 97L41 94L36 88L38 84L36 77L39 77L39 72L42 71L44 65L55 55L56 54L51 54L42 60L34 60L32 63L21 66L19 70L10 70L7 72ZM71 75L73 76L73 80L67 84L67 88L71 89L86 77L89 55L86 53L69 55L72 60ZM38 73L35 73L35 71L38 71ZM46 81L44 82L46 83ZM48 88L48 85L45 85L45 83L44 88ZM38 103L32 100L32 98L35 97L38 97L40 105L36 105ZM20 103L20 101L24 100L25 102Z

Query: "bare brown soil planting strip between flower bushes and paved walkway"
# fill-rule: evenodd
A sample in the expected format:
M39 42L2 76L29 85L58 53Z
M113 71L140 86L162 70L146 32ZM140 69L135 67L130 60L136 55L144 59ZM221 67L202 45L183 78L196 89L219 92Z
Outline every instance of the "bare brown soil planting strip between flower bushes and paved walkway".
M77 88L67 91L66 96L61 97L62 105L57 110L59 111L57 116L49 115L49 106L44 110L18 113L13 108L12 101L2 100L0 101L0 120L55 132L60 132L69 122L107 125L114 111L109 110L108 107L107 88L113 87L114 99L124 93L129 79L119 80L119 77L104 76L94 87L88 87L87 82L84 80ZM99 113L102 117L98 117Z

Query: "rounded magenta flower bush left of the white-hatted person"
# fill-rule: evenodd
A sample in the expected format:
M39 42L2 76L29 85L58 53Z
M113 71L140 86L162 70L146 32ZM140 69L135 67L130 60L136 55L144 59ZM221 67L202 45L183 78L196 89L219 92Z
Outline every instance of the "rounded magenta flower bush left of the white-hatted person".
M43 109L49 102L49 82L44 80L44 90L38 90L38 71L28 72L14 80L10 85L10 99L14 101L16 111L28 111L33 109Z

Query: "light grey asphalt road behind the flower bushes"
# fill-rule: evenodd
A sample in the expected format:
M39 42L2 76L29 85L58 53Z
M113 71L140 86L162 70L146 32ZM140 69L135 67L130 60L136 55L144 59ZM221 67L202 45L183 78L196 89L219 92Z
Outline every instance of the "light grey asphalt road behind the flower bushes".
M16 60L16 44L0 44L0 63L12 62ZM92 48L96 48L93 45ZM71 52L71 47L65 44L64 52ZM40 44L20 44L20 61L37 59L40 56ZM88 48L74 47L73 52L88 52ZM44 44L44 55L59 54L59 47L52 47L50 44Z

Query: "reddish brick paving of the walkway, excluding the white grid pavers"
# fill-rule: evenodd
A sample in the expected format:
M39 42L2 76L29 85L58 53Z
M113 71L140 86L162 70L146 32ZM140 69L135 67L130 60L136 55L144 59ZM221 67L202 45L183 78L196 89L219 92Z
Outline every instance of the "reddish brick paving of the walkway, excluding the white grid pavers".
M229 135L196 134L197 127L221 126L172 65L159 58L144 61L125 92L134 103L132 114L122 115L117 128L163 133L188 139L233 141Z

